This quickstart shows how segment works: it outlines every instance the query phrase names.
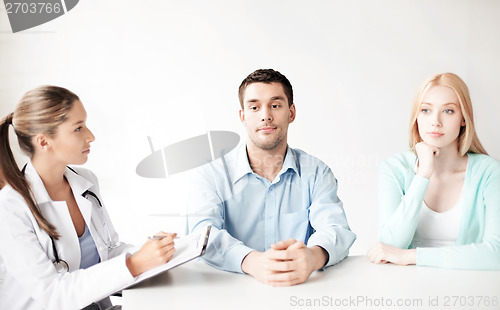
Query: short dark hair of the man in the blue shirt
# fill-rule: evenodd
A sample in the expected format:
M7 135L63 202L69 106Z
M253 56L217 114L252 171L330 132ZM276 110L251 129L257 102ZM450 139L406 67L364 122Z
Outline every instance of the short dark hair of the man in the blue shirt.
M290 81L283 74L273 69L258 69L250 73L240 84L238 90L238 97L240 98L241 108L243 109L243 95L247 86L252 83L280 83L285 91L286 98L288 99L288 106L293 104L293 89Z

